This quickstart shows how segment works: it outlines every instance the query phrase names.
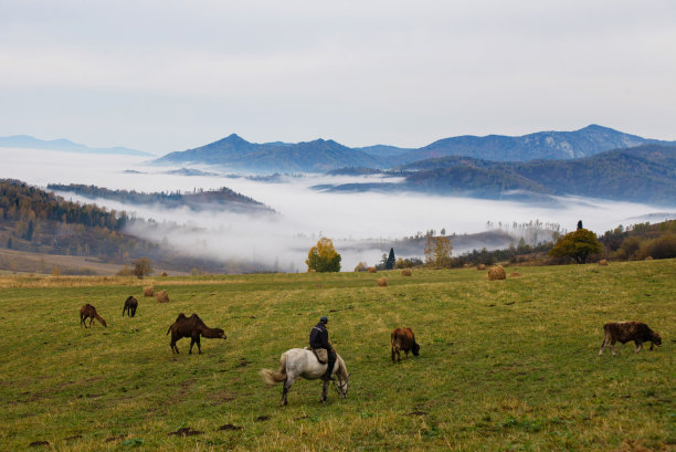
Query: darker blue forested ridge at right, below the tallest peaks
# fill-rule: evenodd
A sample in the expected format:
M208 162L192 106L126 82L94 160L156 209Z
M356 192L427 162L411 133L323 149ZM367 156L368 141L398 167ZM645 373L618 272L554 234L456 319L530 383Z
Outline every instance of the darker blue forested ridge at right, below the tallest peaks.
M360 175L361 171L356 170L352 174ZM674 146L643 145L578 159L525 162L442 157L404 165L392 171L381 171L381 175L385 176L385 181L325 185L316 189L342 192L418 191L530 200L542 196L581 196L663 206L676 204ZM398 179L387 181L387 176Z

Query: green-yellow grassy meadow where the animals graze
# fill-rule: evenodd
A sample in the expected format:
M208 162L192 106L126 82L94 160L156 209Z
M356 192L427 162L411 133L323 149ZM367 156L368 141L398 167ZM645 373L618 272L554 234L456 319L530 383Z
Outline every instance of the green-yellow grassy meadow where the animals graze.
M676 261L514 271L0 276L0 450L675 450ZM128 295L135 318L122 317ZM85 303L107 328L81 328ZM180 312L228 339L202 339L202 355L182 339L172 355L165 334ZM320 315L348 398L331 388L319 403L321 383L298 380L279 408L282 387L258 371L305 346ZM596 356L603 324L626 319L663 347ZM413 328L420 357L391 362L398 326ZM199 433L170 434L187 428Z

